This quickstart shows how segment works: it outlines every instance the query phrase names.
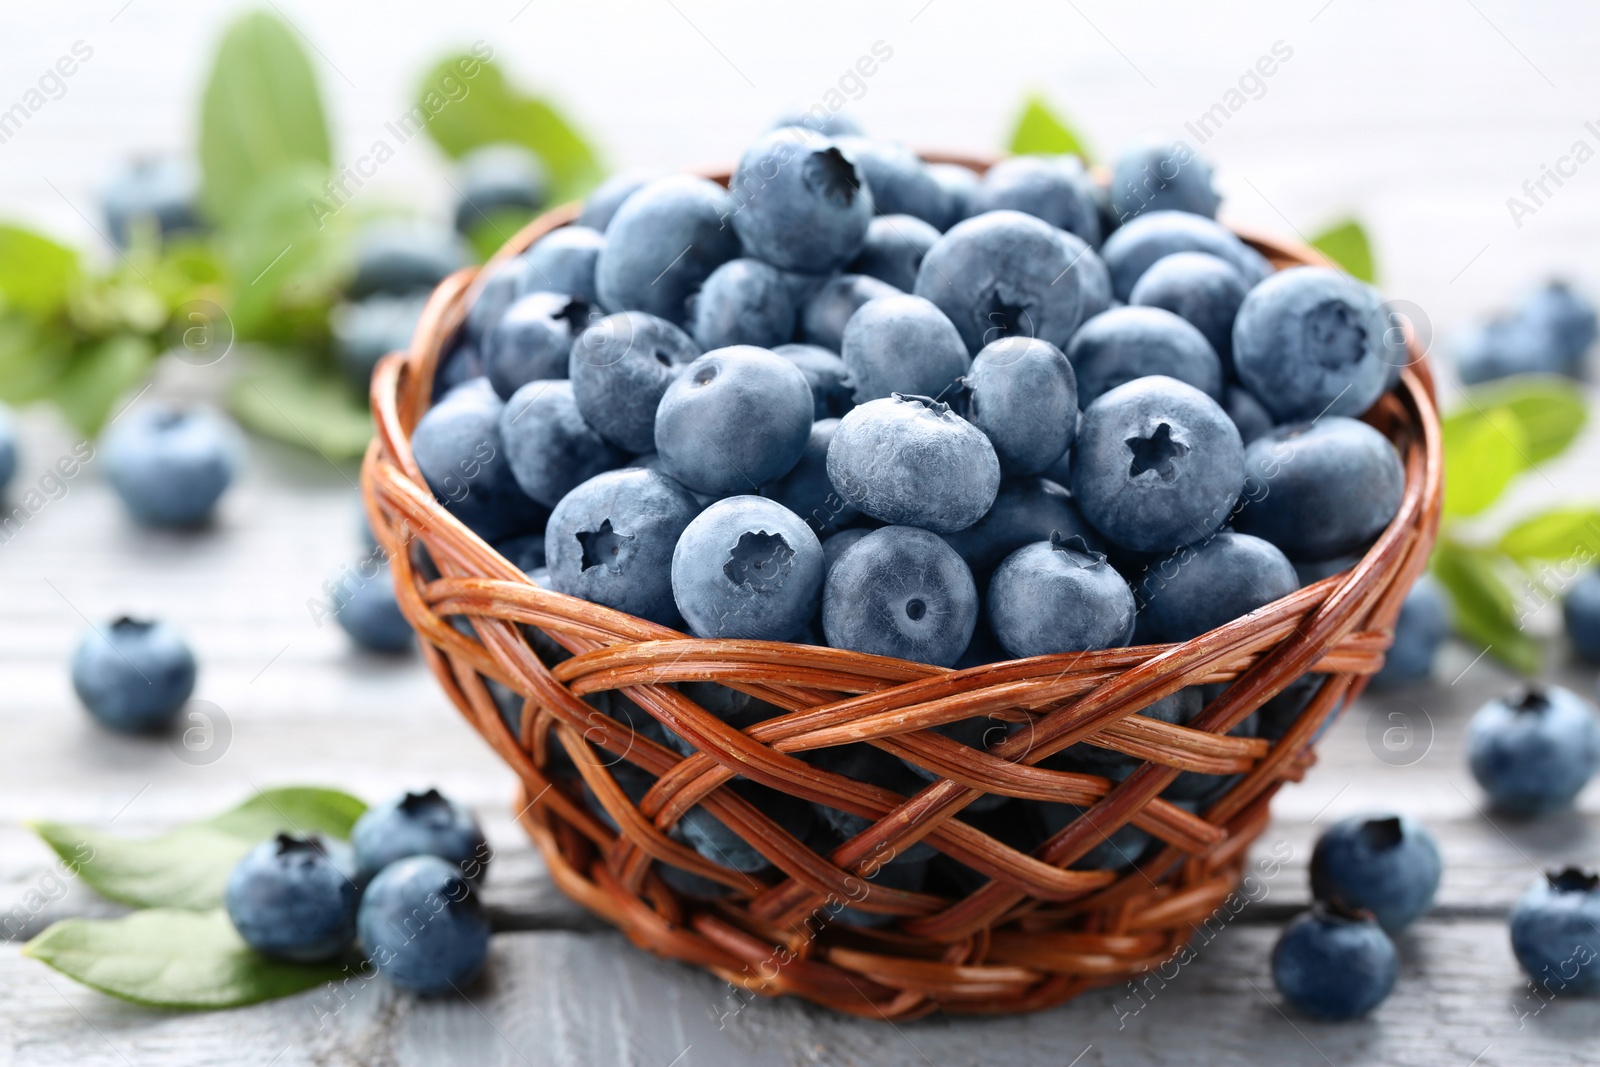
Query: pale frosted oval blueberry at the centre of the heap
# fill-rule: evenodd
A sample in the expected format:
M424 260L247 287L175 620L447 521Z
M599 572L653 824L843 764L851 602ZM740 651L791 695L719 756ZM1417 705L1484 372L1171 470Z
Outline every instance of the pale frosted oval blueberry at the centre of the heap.
M971 526L1000 491L1000 461L978 427L946 403L901 394L840 421L827 475L867 515L936 533Z

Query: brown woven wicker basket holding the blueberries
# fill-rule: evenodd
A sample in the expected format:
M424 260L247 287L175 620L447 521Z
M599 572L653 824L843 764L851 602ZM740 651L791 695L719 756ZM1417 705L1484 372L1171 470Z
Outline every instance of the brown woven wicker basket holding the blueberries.
M981 162L954 162L984 170ZM573 205L544 214L499 256L574 216ZM1242 237L1278 267L1325 262L1304 246ZM464 270L442 283L411 350L387 357L373 378L378 437L362 486L373 531L392 557L400 606L451 701L522 779L518 819L557 885L637 945L755 993L794 993L883 1019L938 1009L1032 1011L1166 960L1192 923L1234 891L1272 793L1304 774L1325 720L1382 665L1400 601L1434 542L1438 418L1429 368L1416 354L1398 389L1366 414L1405 464L1405 499L1389 530L1354 569L1190 641L944 670L834 648L690 638L534 585L434 501L410 434L430 403L440 349L462 320L472 280ZM453 625L450 616L470 627L461 619ZM571 656L557 662L550 641ZM533 645L541 645L542 659ZM1278 741L1227 736L1306 672L1326 680ZM518 728L502 717L485 680L526 697ZM790 713L739 731L667 685L682 681L718 681ZM1133 715L1184 686L1224 681L1226 691L1187 728ZM685 758L600 713L597 704L605 704L595 694L613 689L694 753ZM986 715L1030 729L987 752L930 729ZM1085 739L1142 763L1120 784L1037 766ZM907 797L798 758L854 741L902 757L936 781ZM618 782L622 765L656 777L637 805ZM1238 777L1195 814L1158 797L1184 769ZM736 774L870 825L818 854L726 789ZM610 819L597 817L586 792ZM989 793L1086 813L1024 854L962 817ZM694 805L771 867L742 875L680 843L669 832ZM1160 845L1134 869L1070 869L1128 822ZM862 875L915 841L978 872L971 891L941 896L874 885L862 897ZM662 878L662 864L677 869L669 873L720 883L726 896L678 893ZM893 921L838 921L842 904Z

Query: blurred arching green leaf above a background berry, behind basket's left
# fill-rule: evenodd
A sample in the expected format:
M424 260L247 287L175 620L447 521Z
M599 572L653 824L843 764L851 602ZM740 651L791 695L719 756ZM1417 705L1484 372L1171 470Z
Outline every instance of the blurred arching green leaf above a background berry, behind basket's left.
M507 83L493 62L470 54L443 59L422 78L416 101L411 117L451 158L496 142L533 150L550 173L555 203L582 197L603 174L594 149L560 110Z

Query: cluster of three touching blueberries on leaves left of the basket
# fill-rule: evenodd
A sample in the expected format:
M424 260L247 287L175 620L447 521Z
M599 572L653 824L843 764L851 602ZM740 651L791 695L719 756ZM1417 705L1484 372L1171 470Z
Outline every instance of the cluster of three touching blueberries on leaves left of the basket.
M278 833L227 880L224 902L256 952L293 963L360 952L397 987L438 995L488 958L477 889L490 848L472 813L437 789L370 808L350 841Z

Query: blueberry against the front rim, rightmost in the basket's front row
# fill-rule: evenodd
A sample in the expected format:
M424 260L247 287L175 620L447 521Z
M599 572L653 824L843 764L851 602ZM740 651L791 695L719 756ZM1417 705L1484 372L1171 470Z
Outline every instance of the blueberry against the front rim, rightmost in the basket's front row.
M1299 589L1294 565L1261 537L1222 531L1152 563L1139 582L1139 633L1187 641Z

